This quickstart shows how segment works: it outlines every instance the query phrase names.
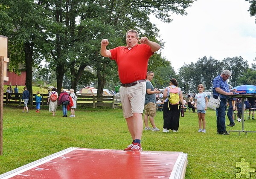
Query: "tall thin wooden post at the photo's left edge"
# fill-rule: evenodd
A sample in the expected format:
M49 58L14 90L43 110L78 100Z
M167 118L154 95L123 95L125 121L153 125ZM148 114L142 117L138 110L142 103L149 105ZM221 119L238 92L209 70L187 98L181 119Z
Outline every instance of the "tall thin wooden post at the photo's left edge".
M0 57L0 156L3 155L3 56Z

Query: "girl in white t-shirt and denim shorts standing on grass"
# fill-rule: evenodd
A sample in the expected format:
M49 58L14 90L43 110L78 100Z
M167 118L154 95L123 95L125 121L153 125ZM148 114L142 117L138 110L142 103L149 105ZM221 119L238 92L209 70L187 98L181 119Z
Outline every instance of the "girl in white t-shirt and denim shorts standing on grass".
M198 85L198 91L199 91L199 93L195 95L195 109L197 109L198 124L199 124L198 133L200 133L200 132L206 133L205 113L207 110L208 99L207 99L207 94L204 92L203 84ZM202 124L203 124L203 128L202 128Z

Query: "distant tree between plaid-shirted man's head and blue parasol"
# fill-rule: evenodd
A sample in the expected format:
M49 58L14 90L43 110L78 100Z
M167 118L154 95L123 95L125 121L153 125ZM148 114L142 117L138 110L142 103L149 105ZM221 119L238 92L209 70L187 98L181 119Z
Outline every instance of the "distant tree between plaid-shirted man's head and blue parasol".
M222 63L223 69L228 69L230 72L232 72L232 75L229 78L229 84L232 87L238 86L238 78L242 77L244 72L247 72L249 69L248 61L244 61L244 59L241 57L228 57L224 58Z

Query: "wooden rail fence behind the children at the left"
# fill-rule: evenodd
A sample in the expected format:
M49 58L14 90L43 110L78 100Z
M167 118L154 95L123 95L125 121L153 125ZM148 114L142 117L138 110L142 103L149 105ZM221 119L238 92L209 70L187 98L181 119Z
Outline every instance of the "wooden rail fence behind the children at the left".
M30 94L30 99L28 105L31 107L35 104L35 95ZM42 96L41 105L48 105L48 93L40 94ZM97 95L76 95L78 100L76 105L81 107L111 107L115 109L116 107L121 107L120 98L114 95L110 96L97 96ZM23 105L24 102L21 100L22 93L3 93L3 103L4 104L18 104L19 106Z

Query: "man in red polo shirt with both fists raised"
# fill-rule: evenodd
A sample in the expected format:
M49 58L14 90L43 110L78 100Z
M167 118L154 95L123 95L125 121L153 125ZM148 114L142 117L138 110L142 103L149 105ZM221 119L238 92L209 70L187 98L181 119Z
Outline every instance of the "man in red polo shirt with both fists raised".
M132 144L124 150L142 151L140 140L143 132L143 109L146 92L148 59L161 47L158 43L142 37L136 30L126 32L126 46L107 50L108 39L101 41L101 55L116 61L121 81L120 100L123 115L132 137Z

